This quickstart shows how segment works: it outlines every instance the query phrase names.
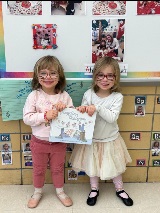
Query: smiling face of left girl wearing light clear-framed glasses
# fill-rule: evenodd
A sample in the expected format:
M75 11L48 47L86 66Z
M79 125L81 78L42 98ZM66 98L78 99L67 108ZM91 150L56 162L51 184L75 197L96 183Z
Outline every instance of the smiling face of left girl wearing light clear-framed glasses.
M39 71L38 80L44 92L54 94L55 86L59 81L59 74L54 68L43 69Z

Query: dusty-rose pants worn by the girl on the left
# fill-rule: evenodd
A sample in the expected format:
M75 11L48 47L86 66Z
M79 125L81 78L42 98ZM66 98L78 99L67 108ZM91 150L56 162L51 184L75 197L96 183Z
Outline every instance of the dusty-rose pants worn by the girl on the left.
M55 188L63 187L66 143L50 143L32 135L30 147L33 160L34 187L42 188L44 186L48 163Z

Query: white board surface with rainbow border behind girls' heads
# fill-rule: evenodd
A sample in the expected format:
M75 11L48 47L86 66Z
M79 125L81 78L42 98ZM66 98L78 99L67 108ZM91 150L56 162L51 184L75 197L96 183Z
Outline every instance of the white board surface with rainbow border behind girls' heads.
M43 2L42 16L8 15L2 2L3 25L8 72L32 71L42 56L52 54L59 58L65 71L81 72L91 60L92 2L86 2L86 16L50 15L50 1ZM113 16L107 16L112 18ZM128 71L160 71L160 15L136 16L136 1L127 1L125 18L124 63ZM54 50L32 48L32 24L57 24L57 45Z

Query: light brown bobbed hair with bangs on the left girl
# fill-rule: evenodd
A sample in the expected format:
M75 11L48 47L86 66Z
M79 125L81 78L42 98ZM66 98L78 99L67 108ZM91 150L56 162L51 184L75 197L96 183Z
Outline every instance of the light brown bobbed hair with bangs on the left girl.
M66 86L64 69L63 69L60 61L55 56L51 56L51 55L44 56L36 62L35 66L34 66L33 79L31 82L33 90L37 90L37 89L41 88L41 85L38 80L39 71L43 70L43 69L48 69L48 70L53 69L53 67L59 74L59 81L58 81L58 84L55 86L55 92L58 93L60 91L61 92L64 91L64 88Z

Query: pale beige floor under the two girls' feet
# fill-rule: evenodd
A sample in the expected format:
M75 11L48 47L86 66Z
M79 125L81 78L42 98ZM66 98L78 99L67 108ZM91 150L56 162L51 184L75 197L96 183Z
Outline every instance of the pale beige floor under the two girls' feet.
M65 191L73 199L73 206L64 207L55 196L51 184L44 186L44 194L35 209L27 208L33 192L31 185L0 185L0 213L159 213L160 183L124 183L124 188L134 200L125 206L115 195L112 183L100 183L100 196L95 206L88 206L88 183L65 184Z

